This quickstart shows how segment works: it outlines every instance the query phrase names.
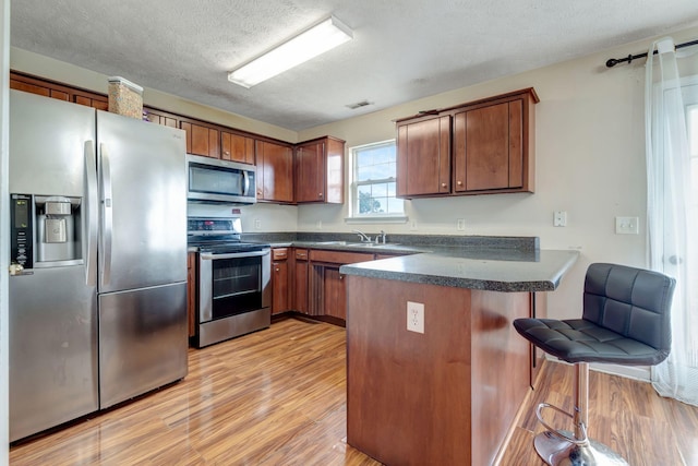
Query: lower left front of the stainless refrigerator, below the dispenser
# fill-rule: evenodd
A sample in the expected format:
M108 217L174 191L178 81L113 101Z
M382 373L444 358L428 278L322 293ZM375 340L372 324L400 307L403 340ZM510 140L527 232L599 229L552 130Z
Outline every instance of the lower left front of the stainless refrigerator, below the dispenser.
M83 266L9 277L9 307L10 441L96 411L97 295Z

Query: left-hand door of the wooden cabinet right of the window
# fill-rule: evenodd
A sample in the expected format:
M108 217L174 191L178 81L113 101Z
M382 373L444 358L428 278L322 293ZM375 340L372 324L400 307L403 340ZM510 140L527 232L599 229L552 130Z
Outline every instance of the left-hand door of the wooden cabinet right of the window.
M398 126L397 195L450 192L450 116Z

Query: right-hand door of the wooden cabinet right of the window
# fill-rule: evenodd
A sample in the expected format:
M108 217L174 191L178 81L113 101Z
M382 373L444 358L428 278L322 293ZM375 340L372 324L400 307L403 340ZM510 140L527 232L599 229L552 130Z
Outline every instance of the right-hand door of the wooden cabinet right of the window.
M454 191L521 188L522 100L458 112L454 119Z

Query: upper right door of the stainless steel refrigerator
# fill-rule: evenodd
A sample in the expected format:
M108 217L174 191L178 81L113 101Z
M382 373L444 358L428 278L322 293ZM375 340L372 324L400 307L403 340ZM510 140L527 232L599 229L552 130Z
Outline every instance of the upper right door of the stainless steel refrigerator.
M184 132L97 111L99 292L186 280Z

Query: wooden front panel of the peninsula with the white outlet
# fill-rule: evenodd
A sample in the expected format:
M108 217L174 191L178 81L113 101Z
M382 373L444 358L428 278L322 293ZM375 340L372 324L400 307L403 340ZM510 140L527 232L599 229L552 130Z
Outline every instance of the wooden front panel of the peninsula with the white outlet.
M483 464L471 462L469 290L346 283L347 442L385 464ZM406 330L408 300L424 303L423 335Z

